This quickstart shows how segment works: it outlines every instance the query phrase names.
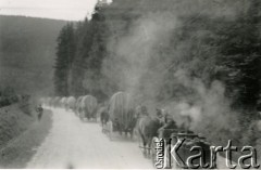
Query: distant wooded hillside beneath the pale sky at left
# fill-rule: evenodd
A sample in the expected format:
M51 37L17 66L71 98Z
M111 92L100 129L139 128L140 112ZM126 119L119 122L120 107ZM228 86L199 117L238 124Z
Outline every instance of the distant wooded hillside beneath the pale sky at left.
M64 21L0 15L1 87L12 87L17 93L50 93L55 40L65 24Z

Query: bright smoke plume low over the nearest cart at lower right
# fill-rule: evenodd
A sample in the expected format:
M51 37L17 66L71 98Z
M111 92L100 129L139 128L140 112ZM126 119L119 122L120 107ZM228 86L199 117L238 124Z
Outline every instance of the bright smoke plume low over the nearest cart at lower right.
M225 96L222 82L215 80L207 87L200 79L188 77L184 70L175 73L175 77L178 83L195 92L190 96L192 102L184 99L165 106L179 125L184 122L184 116L188 116L191 119L189 129L208 134L214 142L227 141L237 135L240 129L237 114L231 109L231 100Z

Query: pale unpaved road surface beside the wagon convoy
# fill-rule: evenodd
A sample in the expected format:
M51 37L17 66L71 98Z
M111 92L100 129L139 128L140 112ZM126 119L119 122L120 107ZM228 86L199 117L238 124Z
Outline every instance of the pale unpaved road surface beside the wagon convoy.
M110 141L99 123L82 122L64 109L52 112L52 129L27 168L153 168L136 142L117 135Z

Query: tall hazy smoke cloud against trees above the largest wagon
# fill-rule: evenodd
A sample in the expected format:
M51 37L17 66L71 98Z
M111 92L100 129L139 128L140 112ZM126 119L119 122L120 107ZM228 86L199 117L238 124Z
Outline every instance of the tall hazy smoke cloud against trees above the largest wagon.
M170 18L169 13L142 16L133 24L126 36L110 39L108 49L112 55L103 62L103 74L117 82L121 90L136 96L147 91L145 93L151 95L149 99L154 97L159 84L153 79L159 81L159 70L164 69L160 56L156 56L157 48L166 42L171 31L178 26L175 17L171 22L165 22L166 18ZM151 68L151 63L154 63L154 68ZM144 80L151 83L140 90Z

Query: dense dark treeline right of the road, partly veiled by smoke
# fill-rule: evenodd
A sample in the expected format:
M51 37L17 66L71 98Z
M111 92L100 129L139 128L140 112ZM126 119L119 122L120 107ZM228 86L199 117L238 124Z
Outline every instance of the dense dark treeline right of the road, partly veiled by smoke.
M60 32L57 93L104 101L128 91L137 103L189 114L191 128L216 143L256 144L244 132L258 128L260 8L258 0L97 4L90 21Z

